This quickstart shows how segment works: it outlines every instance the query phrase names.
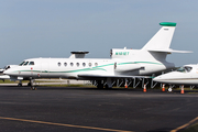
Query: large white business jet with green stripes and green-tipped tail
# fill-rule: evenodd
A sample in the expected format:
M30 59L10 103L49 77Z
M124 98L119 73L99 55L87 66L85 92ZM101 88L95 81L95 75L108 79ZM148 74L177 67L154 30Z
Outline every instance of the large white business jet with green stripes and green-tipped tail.
M29 79L31 88L36 78L67 78L97 80L98 88L112 88L112 80L119 78L144 77L168 68L173 63L166 62L169 53L189 53L169 48L176 23L162 22L161 30L141 50L112 48L111 58L30 58L18 67L4 72L12 78Z

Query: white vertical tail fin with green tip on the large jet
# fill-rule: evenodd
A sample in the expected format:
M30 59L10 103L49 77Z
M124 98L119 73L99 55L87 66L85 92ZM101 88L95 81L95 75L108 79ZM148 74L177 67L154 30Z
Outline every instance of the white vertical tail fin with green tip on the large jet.
M176 23L162 22L161 30L146 43L142 50L167 50L172 43Z

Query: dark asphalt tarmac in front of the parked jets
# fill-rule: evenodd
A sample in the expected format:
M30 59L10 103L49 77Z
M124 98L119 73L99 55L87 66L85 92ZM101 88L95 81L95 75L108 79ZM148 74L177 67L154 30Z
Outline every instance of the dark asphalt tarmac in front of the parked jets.
M197 103L198 91L0 86L0 131L176 132L197 122Z

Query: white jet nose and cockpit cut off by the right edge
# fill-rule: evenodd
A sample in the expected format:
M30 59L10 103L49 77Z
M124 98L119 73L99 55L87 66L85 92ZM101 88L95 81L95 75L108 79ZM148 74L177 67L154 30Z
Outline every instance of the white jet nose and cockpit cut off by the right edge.
M198 65L185 65L175 72L160 75L153 80L172 85L198 85Z

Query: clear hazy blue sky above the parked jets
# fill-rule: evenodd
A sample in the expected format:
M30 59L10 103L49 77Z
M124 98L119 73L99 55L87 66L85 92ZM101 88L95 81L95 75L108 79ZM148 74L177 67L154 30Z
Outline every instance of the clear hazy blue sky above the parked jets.
M176 22L170 48L176 66L198 63L197 0L0 0L0 67L33 57L109 58L111 48L142 48L161 29Z

